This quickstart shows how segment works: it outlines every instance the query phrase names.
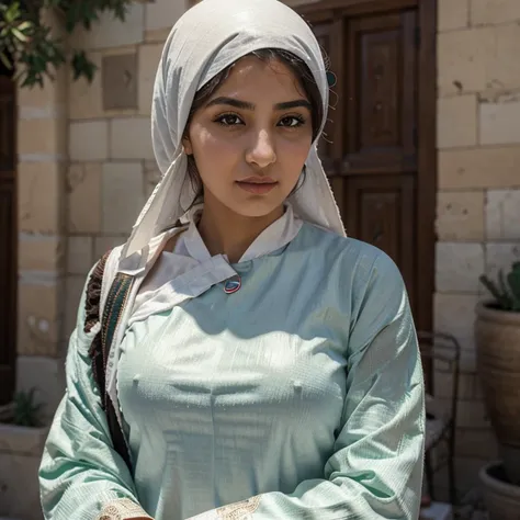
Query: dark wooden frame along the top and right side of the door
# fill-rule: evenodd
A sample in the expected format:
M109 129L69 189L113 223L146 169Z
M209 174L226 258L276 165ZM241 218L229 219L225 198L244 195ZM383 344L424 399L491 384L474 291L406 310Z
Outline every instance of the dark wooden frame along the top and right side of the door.
M320 0L294 9L310 23L404 8L418 15L416 328L433 329L437 204L437 0ZM337 42L341 45L340 42ZM334 43L331 44L334 48ZM331 50L341 59L342 49ZM335 58L331 56L331 61ZM342 101L338 101L342 111ZM338 137L338 136L336 136ZM337 139L341 146L342 139Z

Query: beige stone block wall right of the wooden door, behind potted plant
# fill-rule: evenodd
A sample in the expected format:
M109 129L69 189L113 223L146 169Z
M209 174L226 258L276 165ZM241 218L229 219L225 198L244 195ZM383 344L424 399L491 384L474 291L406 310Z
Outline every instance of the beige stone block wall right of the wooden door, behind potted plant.
M475 373L478 276L520 259L520 2L440 0L436 328L462 342L456 468L476 483L496 442ZM443 479L443 478L442 478Z

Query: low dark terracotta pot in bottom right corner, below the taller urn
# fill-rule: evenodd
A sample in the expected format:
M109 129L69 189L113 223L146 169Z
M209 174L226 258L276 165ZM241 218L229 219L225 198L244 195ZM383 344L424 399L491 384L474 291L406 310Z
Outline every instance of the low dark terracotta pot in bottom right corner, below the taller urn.
M486 464L478 476L489 520L520 520L520 487L507 482L502 464Z

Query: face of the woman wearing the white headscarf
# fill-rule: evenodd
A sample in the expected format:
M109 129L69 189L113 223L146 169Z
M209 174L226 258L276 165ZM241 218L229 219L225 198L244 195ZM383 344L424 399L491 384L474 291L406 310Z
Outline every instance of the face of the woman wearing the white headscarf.
M250 217L280 207L310 149L309 100L291 69L255 56L238 60L199 109L183 139L205 203Z

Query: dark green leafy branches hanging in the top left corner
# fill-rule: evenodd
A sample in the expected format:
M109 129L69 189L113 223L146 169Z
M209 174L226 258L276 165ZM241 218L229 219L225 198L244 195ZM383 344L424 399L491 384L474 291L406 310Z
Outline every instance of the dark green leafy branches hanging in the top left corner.
M84 50L68 48L67 35L77 27L89 31L104 12L121 21L132 0L10 0L0 2L0 59L22 87L43 87L45 77L69 64L74 78L92 81L97 66ZM54 34L42 13L57 13L65 37Z

